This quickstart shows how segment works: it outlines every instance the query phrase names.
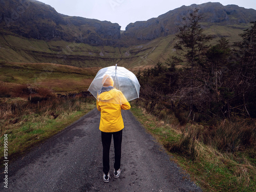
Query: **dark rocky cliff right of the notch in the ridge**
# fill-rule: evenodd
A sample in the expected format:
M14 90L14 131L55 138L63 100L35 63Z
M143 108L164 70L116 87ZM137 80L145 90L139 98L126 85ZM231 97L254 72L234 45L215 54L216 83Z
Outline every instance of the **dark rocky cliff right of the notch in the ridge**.
M129 24L123 36L136 38L143 42L175 34L178 32L176 26L182 25L182 18L188 16L195 9L199 9L199 14L203 14L204 18L201 22L207 23L207 27L211 25L248 24L256 20L256 10L253 9L245 9L236 5L223 6L220 3L193 4L182 6L146 22Z

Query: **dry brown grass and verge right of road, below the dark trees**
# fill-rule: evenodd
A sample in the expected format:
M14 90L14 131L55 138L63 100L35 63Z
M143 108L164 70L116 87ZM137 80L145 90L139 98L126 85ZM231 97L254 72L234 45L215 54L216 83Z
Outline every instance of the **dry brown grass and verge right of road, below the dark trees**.
M140 117L141 114L148 118ZM186 122L160 129L157 117L152 118L152 114L143 108L141 114L138 114L142 119L140 122L177 158L204 191L255 191L255 119L223 120L216 126ZM177 114L169 116L168 121L166 116L161 116L166 126L169 121L178 121Z

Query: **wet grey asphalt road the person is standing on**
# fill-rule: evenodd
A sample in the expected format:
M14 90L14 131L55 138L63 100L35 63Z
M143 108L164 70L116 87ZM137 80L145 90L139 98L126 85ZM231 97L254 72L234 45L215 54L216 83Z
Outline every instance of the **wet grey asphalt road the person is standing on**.
M100 113L94 109L11 163L8 189L1 169L0 191L202 191L130 111L122 111L122 115L125 127L119 178L113 177L112 141L111 179L103 182Z

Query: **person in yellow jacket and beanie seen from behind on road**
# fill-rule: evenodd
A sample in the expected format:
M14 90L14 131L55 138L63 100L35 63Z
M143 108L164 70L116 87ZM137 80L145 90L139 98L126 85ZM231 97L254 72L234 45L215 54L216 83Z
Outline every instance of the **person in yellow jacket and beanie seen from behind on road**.
M101 141L103 146L103 181L109 182L110 145L112 135L115 149L114 178L118 178L121 173L121 143L122 130L124 128L121 110L129 110L131 105L122 92L113 87L114 81L111 76L104 75L102 84L103 87L98 93L96 105L98 111L100 111L99 130L101 131Z

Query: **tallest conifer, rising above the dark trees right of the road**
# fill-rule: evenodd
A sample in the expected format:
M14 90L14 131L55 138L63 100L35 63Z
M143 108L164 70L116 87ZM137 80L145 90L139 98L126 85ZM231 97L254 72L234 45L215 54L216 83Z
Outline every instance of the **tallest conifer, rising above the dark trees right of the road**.
M205 53L209 48L209 41L212 39L211 35L203 33L199 24L202 15L198 12L199 9L196 9L189 14L189 17L183 18L186 24L178 27L179 33L174 39L177 55L171 59L172 65L183 65L184 67L179 95L182 97L183 103L189 105L189 114L191 115L193 114L191 112L199 111L199 106L204 102L202 94L205 90L202 90L202 87L205 81L203 73L206 64Z

